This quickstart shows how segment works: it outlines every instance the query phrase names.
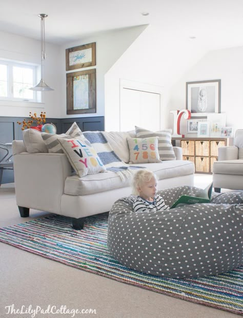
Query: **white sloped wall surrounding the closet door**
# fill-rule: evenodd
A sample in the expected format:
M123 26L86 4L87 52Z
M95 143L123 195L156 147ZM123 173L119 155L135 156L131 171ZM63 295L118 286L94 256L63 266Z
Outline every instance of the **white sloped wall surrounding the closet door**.
M168 110L170 87L206 50L206 47L201 47L200 43L188 37L175 35L168 38L166 30L149 25L106 73L105 129L119 129L120 79L163 87L161 128L172 127L169 123L172 115ZM179 105L176 107L180 109Z

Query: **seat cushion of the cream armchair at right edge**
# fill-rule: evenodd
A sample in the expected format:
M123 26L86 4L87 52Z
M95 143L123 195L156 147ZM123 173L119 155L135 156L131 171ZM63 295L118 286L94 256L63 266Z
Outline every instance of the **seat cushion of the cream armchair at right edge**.
M224 175L243 175L243 159L221 160L213 163L213 173Z

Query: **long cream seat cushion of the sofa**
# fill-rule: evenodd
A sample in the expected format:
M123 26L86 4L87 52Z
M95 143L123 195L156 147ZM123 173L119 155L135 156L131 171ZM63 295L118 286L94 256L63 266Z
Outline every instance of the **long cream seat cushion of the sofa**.
M147 167L153 171L158 180L187 176L194 173L194 164L191 161L175 160L160 163L138 163L136 166ZM87 175L79 178L77 175L67 177L65 181L65 194L88 195L109 191L112 189L130 186L130 179L122 180L114 172ZM165 181L166 182L166 181Z

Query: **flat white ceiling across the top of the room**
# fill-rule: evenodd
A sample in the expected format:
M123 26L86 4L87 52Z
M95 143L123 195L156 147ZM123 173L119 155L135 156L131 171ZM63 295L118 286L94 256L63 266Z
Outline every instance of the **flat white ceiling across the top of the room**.
M142 12L149 12L147 16ZM243 0L0 0L0 30L64 44L93 33L152 24L171 41L196 36L201 47L243 46Z

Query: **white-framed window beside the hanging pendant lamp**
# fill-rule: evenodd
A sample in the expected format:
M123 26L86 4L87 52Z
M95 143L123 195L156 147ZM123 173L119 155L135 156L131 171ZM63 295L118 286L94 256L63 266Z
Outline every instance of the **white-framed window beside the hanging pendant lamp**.
M36 91L30 90L37 82L37 66L0 60L0 99L37 102Z

